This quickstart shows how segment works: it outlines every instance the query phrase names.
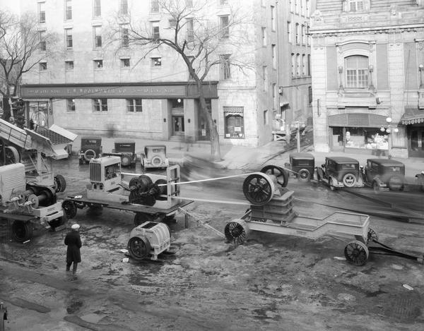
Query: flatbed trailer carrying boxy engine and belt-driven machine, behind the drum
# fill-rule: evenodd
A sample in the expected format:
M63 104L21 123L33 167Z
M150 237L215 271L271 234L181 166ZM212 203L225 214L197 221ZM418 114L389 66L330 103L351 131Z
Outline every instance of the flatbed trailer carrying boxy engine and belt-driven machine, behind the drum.
M90 160L90 188L67 197L62 206L69 218L84 207L107 207L134 212L136 226L154 220L173 219L179 207L192 201L179 199L179 166L167 168L167 175L130 174L121 170L121 158Z

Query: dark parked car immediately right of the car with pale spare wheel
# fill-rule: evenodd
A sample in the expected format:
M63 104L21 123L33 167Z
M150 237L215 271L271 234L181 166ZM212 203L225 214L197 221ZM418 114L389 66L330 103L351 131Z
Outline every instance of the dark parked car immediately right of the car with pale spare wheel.
M405 164L391 159L368 159L361 167L363 181L375 192L401 191L405 183Z

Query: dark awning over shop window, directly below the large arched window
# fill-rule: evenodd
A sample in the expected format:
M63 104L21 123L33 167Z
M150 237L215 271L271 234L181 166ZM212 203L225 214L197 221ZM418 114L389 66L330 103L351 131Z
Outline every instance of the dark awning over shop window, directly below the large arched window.
M377 128L387 125L386 117L387 116L363 113L337 114L328 116L328 125Z

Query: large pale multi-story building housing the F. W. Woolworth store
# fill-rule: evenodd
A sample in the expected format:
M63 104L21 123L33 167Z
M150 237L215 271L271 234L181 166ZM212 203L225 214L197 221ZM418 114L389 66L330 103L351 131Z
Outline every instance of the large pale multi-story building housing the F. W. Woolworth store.
M186 1L186 0L181 0ZM20 8L38 17L44 32L60 36L59 54L23 76L20 96L37 124L57 124L75 133L158 140L209 140L199 109L196 85L183 61L166 47L147 56L105 48L108 22L131 13L152 33L170 33L170 18L158 1L20 0ZM196 4L196 1L187 1ZM276 128L290 130L293 119L311 117L310 52L307 37L312 1L207 1L208 19L225 22L231 7L249 17L243 31L249 44L225 54L245 54L252 70L214 68L204 90L220 143L263 145ZM195 28L195 27L194 27ZM232 30L230 28L230 33Z

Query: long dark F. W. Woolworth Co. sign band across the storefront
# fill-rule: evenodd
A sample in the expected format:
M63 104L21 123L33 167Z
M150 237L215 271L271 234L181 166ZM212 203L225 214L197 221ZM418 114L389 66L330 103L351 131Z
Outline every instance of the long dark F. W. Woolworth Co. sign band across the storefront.
M204 83L204 94L208 98L218 97L217 83ZM22 85L23 98L73 98L73 99L122 99L128 97L169 98L198 97L195 85L180 84L69 84L69 85Z

